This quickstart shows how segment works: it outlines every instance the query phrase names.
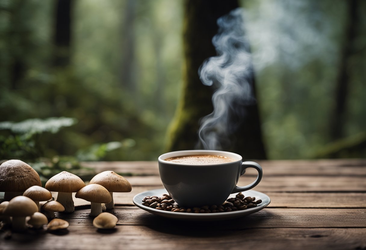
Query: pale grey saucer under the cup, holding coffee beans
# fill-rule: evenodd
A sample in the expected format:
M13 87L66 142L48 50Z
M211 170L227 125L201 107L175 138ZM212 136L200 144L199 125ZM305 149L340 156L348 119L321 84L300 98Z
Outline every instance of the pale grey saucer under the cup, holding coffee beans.
M203 221L203 220L206 220L206 221L227 220L227 219L234 219L234 218L250 215L251 213L255 213L255 212L258 212L259 210L262 210L270 202L270 198L268 197L268 195L258 192L258 191L248 190L248 191L243 192L243 194L246 197L247 196L255 197L256 200L260 199L260 200L262 200L262 202L261 202L261 204L258 204L257 207L248 208L248 209L240 210L240 211L221 212L221 213L175 213L175 212L170 212L170 211L158 210L158 209L154 209L154 208L150 208L150 207L146 207L146 206L142 205L142 199L145 198L146 196L160 197L164 193L168 193L167 190L165 190L164 188L148 190L148 191L136 194L135 197L133 198L133 202L137 207L139 207L147 212L153 213L154 215L159 215L159 216L172 218L172 219L178 219L178 220L201 220L201 221ZM229 197L235 197L236 194L238 194L238 193L231 194Z

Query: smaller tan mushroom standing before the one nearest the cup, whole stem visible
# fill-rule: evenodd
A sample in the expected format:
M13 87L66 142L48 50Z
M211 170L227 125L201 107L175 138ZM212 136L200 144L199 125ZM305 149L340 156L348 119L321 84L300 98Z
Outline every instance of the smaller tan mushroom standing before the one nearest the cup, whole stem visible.
M90 201L90 216L93 217L98 216L102 212L101 203L108 203L112 200L108 190L99 184L85 186L75 194L75 197Z

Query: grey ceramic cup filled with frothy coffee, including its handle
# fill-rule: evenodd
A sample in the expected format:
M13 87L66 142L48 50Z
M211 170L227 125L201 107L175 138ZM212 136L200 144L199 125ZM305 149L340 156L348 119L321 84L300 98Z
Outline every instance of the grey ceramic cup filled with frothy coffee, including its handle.
M186 150L159 156L161 181L180 207L221 205L230 194L256 186L262 178L262 168L255 162L243 162L242 156L225 151ZM258 171L250 185L236 184L246 168Z

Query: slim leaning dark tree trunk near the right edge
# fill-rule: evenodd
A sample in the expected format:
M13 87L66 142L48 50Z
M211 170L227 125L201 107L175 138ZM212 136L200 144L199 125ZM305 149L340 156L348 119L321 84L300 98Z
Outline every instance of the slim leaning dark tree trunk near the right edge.
M344 137L344 125L346 124L347 95L350 88L350 68L348 60L352 56L352 48L356 38L357 0L348 1L348 23L346 25L346 37L341 50L339 71L335 88L334 110L330 117L330 139L337 140Z

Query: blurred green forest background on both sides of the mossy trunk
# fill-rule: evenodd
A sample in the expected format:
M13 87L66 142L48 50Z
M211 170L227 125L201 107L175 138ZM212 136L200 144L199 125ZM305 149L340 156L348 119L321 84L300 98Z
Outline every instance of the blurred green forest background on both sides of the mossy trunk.
M365 157L366 1L239 4L267 158ZM0 159L156 160L182 94L183 6L1 0Z

